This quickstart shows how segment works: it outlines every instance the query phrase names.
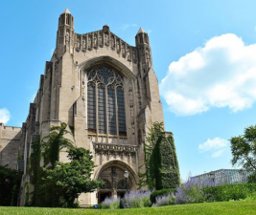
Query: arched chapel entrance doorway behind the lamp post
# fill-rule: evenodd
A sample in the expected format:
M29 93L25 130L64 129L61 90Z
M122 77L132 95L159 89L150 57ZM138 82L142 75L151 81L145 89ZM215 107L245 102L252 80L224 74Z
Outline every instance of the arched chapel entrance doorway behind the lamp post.
M95 178L105 182L98 190L98 203L102 203L106 197L124 197L127 183L124 172L128 170L128 190L135 190L138 178L134 170L123 161L108 161L98 167Z

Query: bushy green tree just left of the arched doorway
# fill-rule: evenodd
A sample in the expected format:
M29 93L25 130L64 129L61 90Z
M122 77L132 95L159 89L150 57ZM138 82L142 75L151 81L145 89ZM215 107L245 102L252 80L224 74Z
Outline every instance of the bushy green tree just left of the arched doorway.
M53 169L44 169L44 187L52 187L58 201L54 206L75 207L76 199L82 192L93 192L104 182L91 180L94 162L90 152L84 148L70 148L68 158L71 162L57 162Z

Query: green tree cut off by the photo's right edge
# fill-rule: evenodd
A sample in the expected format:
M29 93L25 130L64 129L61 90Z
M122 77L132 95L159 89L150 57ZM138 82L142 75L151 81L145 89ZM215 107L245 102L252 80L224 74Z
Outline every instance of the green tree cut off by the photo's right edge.
M244 129L244 135L230 140L232 165L242 165L247 171L256 172L256 125Z

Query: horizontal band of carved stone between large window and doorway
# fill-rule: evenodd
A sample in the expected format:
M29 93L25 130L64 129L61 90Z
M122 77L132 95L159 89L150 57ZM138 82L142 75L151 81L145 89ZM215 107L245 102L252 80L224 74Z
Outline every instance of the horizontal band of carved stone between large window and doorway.
M93 142L93 148L96 154L118 155L118 156L135 156L138 151L136 145L120 145L109 143Z

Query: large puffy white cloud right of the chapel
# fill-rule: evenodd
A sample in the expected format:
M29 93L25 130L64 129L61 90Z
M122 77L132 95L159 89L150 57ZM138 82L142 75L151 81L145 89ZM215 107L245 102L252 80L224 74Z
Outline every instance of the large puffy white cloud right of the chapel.
M256 44L246 46L236 34L226 33L172 62L160 92L177 116L213 107L228 107L235 113L252 107L255 83Z

